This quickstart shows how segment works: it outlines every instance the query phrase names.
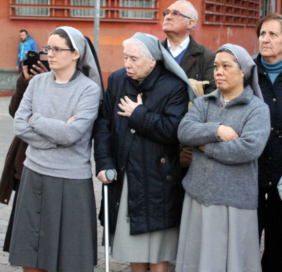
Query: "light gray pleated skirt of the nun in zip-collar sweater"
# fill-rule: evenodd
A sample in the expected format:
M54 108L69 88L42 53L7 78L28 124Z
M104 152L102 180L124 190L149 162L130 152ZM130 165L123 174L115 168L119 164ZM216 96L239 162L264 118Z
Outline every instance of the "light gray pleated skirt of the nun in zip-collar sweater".
M261 272L257 211L206 207L185 193L175 271Z

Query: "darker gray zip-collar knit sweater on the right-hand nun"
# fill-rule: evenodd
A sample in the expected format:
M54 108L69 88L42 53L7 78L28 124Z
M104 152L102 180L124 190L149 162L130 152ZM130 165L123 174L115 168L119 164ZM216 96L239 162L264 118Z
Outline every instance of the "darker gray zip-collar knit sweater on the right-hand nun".
M232 127L238 139L222 142L217 128ZM194 146L192 162L182 183L199 203L255 209L258 203L258 164L270 133L268 106L250 86L229 101L220 91L199 97L178 127L181 143ZM206 144L205 152L198 146Z

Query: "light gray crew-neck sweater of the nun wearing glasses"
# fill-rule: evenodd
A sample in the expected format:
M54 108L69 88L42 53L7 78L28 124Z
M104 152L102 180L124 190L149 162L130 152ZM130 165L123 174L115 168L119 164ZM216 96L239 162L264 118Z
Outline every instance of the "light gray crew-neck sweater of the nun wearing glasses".
M66 83L57 83L53 71L34 76L14 119L16 136L29 144L24 165L44 175L90 178L99 100L100 87L81 72Z

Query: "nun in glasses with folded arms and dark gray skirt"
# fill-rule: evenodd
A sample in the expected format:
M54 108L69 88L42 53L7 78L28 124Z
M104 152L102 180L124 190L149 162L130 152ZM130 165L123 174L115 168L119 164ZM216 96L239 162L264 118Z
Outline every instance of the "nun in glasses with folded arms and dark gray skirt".
M15 114L15 134L28 148L9 262L24 272L93 272L91 134L102 85L77 29L55 29L43 48L51 71L31 79Z

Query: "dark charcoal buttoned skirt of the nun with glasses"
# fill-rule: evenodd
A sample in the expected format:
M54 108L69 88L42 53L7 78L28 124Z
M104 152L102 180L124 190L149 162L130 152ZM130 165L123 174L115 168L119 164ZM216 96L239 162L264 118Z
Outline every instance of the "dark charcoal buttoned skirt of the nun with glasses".
M9 262L50 272L93 272L97 219L91 178L57 178L24 167Z

